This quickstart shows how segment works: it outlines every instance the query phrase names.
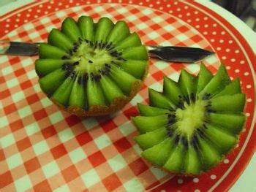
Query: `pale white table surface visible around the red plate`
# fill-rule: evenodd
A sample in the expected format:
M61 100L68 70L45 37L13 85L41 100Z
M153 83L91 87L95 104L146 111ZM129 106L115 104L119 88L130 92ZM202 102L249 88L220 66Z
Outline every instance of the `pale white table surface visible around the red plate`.
M22 7L23 5L29 4L31 2L32 2L31 0L19 1L19 2L14 0L1 0L0 1L1 15L4 15L7 12L12 11L13 9L17 9L18 7ZM238 29L238 31L240 31L240 33L244 36L244 38L252 47L252 50L256 55L255 31L252 31L252 29L246 26L246 24L242 20L240 20L239 18L237 18L235 15L228 12L227 10L223 9L222 7L219 7L217 4L214 4L211 1L206 1L206 0L199 0L198 2L200 4L206 5L207 7L211 7L211 9L214 12L217 12L219 15L222 15L222 17L225 18L230 23L236 23L234 27ZM255 191L255 187L253 185L254 182L256 181L255 180L256 178L255 164L256 164L256 152L252 156L252 159L249 162L248 166L246 166L246 169L244 170L243 174L241 174L241 177L239 177L236 183L232 186L232 188L230 188L231 192Z

